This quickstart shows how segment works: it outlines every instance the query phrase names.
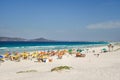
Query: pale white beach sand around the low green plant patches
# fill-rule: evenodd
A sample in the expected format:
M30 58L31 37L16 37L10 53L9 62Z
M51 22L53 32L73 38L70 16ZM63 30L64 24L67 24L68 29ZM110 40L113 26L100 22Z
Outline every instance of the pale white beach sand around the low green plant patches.
M0 80L120 80L120 50L100 53L102 48L91 48L84 58L65 55L62 59L54 59L53 62L48 63L30 60L5 61L0 65ZM92 53L92 50L96 52ZM97 57L94 54L100 54L100 56ZM64 65L73 68L67 71L51 72L53 67ZM37 70L37 72L16 73L26 70Z

